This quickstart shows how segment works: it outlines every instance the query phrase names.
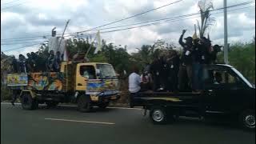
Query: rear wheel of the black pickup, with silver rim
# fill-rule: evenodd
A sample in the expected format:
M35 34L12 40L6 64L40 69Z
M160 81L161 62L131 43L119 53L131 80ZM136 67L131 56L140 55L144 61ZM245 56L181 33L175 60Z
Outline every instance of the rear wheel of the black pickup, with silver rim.
M166 124L167 113L162 106L152 107L150 110L150 119L154 124Z

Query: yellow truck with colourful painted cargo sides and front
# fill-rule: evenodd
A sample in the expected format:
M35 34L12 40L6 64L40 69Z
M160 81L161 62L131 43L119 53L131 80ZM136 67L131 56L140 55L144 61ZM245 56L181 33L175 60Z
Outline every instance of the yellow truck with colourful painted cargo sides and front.
M74 102L78 110L90 112L120 98L113 66L99 62L62 62L60 72L8 74L7 86L19 94L24 110Z

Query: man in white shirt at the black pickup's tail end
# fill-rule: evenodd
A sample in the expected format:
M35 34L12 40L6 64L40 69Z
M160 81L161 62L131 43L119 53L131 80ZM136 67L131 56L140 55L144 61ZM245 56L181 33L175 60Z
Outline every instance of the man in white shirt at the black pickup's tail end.
M141 77L138 75L138 67L134 66L133 73L129 75L130 107L133 107L134 97L141 90Z

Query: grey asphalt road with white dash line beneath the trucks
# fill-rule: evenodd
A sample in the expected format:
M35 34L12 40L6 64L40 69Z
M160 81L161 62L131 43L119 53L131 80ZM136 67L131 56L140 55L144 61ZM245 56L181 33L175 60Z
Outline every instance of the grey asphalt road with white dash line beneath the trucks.
M234 125L206 124L183 118L153 125L139 109L107 108L80 113L75 107L22 110L1 104L2 144L194 143L254 144L255 133Z

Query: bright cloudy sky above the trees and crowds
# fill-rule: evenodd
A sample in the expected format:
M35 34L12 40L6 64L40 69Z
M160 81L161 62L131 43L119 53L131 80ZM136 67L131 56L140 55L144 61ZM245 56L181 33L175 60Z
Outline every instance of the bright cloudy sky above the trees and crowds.
M50 38L51 30L54 27L56 27L57 34L62 34L68 19L70 19L70 23L66 29L66 36L69 33L102 26L171 2L175 3L101 28L199 12L198 0L176 1L178 0L1 0L1 51L10 50L5 54L14 54L15 56L36 51L38 50L37 44ZM213 44L223 45L223 10L216 10L223 7L223 0L213 0L212 2L215 11L211 12L211 18L214 18L214 22L206 30L206 34L210 35ZM251 1L227 1L227 6L234 6L242 2ZM227 11L228 42L231 44L250 42L255 35L255 3L232 7ZM131 26L100 30L101 38L105 39L107 43L113 42L117 46L126 45L129 53L135 52L136 48L140 48L142 45L152 45L158 39L178 46L178 38L183 29L186 30L185 37L194 34L194 24L200 20L198 16L179 18L172 22L160 22L130 30L104 33L104 31ZM86 34L94 32L86 32ZM45 38L43 38L44 36ZM85 34L79 37L85 37ZM92 37L94 38L94 36ZM11 50L19 47L24 48Z

